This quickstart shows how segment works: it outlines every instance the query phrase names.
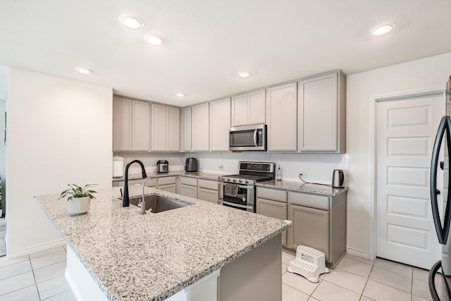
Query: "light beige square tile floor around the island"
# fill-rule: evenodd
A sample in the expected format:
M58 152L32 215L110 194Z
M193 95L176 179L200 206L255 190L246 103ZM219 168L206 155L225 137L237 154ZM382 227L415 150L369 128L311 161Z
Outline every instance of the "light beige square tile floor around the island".
M347 254L319 283L286 271L294 254L283 251L283 301L431 300L428 271ZM14 259L0 257L0 300L75 300L64 270L66 249L56 247ZM438 283L440 278L438 278Z

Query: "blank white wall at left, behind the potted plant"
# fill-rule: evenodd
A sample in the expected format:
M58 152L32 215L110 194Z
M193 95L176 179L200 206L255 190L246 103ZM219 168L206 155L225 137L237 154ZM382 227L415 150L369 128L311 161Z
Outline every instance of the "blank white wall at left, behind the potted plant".
M34 195L111 188L113 91L17 68L8 79L6 243L16 257L61 242Z

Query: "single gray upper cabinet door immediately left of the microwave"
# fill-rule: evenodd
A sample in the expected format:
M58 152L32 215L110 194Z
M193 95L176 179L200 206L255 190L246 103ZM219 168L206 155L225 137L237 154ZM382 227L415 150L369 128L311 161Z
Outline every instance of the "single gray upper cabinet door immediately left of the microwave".
M228 152L230 98L210 102L210 150Z

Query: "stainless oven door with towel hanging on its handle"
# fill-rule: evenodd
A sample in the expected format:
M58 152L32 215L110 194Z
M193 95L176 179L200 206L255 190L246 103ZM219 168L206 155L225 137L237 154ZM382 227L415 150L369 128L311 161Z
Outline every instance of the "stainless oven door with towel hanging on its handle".
M224 183L223 205L244 211L255 212L254 185Z

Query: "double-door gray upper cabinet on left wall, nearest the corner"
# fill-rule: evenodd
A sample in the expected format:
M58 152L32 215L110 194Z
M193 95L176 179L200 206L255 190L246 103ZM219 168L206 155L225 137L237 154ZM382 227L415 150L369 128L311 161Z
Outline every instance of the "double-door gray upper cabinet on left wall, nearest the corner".
M178 152L180 109L152 104L152 152Z

